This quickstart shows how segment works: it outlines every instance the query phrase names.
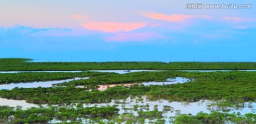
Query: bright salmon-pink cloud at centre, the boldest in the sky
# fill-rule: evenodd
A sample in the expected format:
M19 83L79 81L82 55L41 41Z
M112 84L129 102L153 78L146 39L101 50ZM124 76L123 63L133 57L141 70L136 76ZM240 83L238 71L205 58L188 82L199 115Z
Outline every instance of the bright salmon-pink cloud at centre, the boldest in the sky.
M132 30L137 30L138 28L143 28L146 23L116 23L116 22L106 22L106 23L83 23L83 28L87 30L102 31L105 33L118 33L118 32L129 32Z

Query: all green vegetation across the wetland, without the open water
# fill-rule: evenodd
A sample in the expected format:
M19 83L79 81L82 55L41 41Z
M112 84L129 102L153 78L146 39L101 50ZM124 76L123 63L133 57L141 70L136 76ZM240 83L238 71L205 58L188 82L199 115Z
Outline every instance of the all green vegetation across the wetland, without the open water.
M166 123L175 124L213 124L213 123L256 123L256 114L247 113L198 113L182 114L172 106L158 106L149 109L149 104L136 104L130 108L124 106L124 113L118 114L114 106L83 107L82 103L110 103L112 100L130 97L131 101L167 99L169 101L195 102L200 100L215 101L208 106L216 106L217 110L230 111L230 108L243 108L245 102L256 101L256 72L182 72L175 70L189 69L256 69L255 62L26 62L29 59L0 59L1 71L41 71L41 70L92 70L92 69L159 69L162 72L132 72L127 74L104 72L24 72L16 74L0 74L0 84L31 81L52 81L89 77L64 82L48 88L14 88L0 90L1 98L26 100L29 103L58 104L49 108L30 108L21 110L0 106L0 123L49 123L62 120L62 123ZM184 77L191 81L183 84L144 86L146 81L166 81L167 78ZM114 86L99 91L98 85L134 84L132 86ZM56 84L57 86L57 84ZM85 86L76 88L75 86ZM75 104L78 103L78 104ZM75 107L74 107L75 105ZM248 107L253 108L252 105ZM214 108L213 108L214 109ZM134 115L131 111L138 113ZM130 111L130 112L129 112ZM167 117L166 113L174 113L176 117ZM166 119L166 118L169 118ZM68 121L69 120L69 121Z

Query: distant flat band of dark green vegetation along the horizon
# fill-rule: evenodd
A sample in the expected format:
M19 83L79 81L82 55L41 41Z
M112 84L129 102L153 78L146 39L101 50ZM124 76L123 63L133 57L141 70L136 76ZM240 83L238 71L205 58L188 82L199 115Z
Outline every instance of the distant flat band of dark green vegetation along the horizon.
M94 69L256 69L256 62L26 62L30 59L0 59L0 71L75 71Z

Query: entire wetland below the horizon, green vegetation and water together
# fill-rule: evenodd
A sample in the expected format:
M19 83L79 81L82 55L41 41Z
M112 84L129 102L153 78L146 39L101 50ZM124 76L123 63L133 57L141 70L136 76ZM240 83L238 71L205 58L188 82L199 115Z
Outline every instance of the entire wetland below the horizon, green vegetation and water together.
M254 62L25 61L0 59L0 123L256 123Z

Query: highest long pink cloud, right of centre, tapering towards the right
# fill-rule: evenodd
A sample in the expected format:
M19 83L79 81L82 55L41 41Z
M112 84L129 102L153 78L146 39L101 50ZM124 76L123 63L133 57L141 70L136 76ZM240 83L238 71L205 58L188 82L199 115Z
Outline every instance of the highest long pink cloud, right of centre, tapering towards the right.
M142 13L142 15L148 18L154 18L161 21L171 21L171 22L185 22L191 18L213 18L208 15L184 15L184 14L173 14L171 16L166 15L164 13L155 13L155 12L146 12Z

